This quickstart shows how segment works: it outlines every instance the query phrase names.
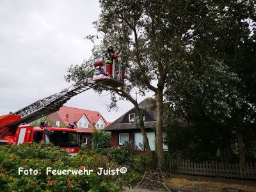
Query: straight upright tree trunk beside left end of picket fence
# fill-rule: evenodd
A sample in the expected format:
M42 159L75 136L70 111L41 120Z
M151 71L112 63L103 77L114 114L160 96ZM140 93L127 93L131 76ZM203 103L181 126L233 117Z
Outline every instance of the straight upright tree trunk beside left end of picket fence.
M163 90L157 89L156 92L156 150L158 166L164 169L164 150L163 150Z

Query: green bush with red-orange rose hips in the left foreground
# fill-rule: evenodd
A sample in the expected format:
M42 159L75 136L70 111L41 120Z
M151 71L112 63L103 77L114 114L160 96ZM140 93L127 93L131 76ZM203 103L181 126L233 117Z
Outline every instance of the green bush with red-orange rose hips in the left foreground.
M46 175L52 170L77 170L92 165L113 167L113 161L100 156L69 157L60 147L45 143L0 146L0 191L122 191L122 186L113 177L90 175ZM37 175L19 175L19 167L38 170ZM120 175L122 177L122 175Z

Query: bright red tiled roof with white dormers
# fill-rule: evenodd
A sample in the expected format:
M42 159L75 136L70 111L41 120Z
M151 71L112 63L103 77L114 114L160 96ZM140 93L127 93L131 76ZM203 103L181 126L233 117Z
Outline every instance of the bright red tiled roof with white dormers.
M60 116L63 123L66 125L74 124L74 122L77 122L83 115L86 116L90 124L95 124L100 119L100 117L102 117L104 122L108 124L106 119L98 111L90 111L86 109L63 106L60 108L59 111L57 111L57 113Z

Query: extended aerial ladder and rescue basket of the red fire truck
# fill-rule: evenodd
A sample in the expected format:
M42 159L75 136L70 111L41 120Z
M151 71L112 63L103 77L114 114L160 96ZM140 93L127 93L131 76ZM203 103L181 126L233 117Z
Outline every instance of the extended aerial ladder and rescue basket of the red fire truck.
M122 67L121 56L117 54L117 52L115 53L115 56L113 56L113 66L109 68L111 72L109 72L106 68L106 63L104 60L104 54L94 59L94 70L91 71L94 71L94 76L92 79L82 79L81 81L78 81L72 86L61 90L61 92L50 95L49 97L45 97L44 99L37 100L36 102L33 102L32 104L29 104L22 109L19 109L18 111L10 115L19 115L20 119L15 120L8 125L13 127L19 124L27 124L29 122L38 120L43 116L54 113L58 111L61 106L63 106L63 104L67 102L67 100L71 99L71 97L74 97L79 93L85 92L86 90L93 88L97 84L101 84L105 87L111 86L114 88L123 86L124 68ZM88 72L88 74L90 74L91 72ZM107 73L110 73L111 76L109 76Z

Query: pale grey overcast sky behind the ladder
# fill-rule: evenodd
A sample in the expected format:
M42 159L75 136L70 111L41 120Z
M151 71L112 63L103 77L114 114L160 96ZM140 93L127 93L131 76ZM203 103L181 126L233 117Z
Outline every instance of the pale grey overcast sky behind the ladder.
M99 13L98 1L0 0L0 115L71 85L67 68L90 57L93 44L83 38L96 33ZM109 98L90 90L65 106L99 111L109 122L132 108L121 101L109 113Z

